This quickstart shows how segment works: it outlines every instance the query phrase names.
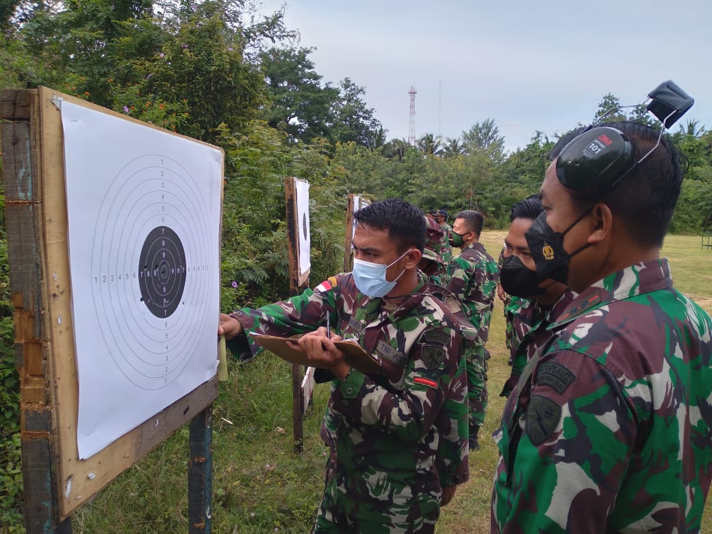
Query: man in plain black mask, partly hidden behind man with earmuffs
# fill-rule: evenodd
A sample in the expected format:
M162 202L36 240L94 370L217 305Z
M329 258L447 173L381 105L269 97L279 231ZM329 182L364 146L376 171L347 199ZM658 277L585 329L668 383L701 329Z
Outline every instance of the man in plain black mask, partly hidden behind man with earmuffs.
M530 338L545 329L575 296L566 285L555 280L540 282L534 258L529 251L525 232L530 229L543 208L538 195L532 195L512 206L509 231L504 239L500 264L500 286L510 295L505 312L511 315L508 348L512 371L501 397L507 397L517 384L535 345Z

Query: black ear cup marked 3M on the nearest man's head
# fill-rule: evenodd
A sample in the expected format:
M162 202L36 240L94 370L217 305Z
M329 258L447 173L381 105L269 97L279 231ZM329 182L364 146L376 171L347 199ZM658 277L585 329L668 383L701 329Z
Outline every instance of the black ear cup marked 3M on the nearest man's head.
M608 191L632 169L634 150L623 132L593 127L575 137L556 160L556 176L567 189Z

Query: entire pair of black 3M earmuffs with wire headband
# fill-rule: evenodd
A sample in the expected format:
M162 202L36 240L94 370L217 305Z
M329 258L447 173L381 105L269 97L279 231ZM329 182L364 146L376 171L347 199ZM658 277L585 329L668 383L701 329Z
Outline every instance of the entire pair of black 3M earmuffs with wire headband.
M658 142L651 150L638 161L634 161L634 147L622 131L609 126L591 125L561 151L556 160L556 176L559 182L574 191L597 190L604 194L612 191L660 145L664 130L673 125L695 103L695 100L672 80L658 85L649 93L648 98L650 103L646 106L646 111L655 115L663 125ZM603 117L617 109L619 108L608 110Z

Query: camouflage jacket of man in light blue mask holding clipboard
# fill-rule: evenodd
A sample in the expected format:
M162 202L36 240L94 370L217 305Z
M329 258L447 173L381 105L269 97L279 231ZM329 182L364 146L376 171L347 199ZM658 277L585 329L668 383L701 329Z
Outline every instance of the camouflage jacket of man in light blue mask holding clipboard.
M419 292L422 273L420 282L402 298L369 298L342 273L286 302L232 314L248 333L285 336L325 325L328 313L337 335L381 360L383 375L351 370L332 382L323 424L332 453L326 491L349 501L357 517L431 511L441 485L468 479L461 328L438 299ZM259 349L251 336L230 343L244 359Z

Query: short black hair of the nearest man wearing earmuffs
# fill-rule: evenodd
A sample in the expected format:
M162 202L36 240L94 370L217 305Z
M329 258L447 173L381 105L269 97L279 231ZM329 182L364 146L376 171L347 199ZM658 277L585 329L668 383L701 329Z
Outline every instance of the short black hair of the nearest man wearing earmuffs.
M654 127L628 120L600 126L617 128L628 137L634 147L635 162L655 146L660 135L660 130ZM639 244L662 246L686 169L684 155L663 135L659 147L626 174L616 189L572 192L572 198L582 207L604 202Z

